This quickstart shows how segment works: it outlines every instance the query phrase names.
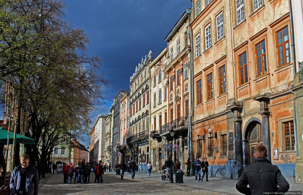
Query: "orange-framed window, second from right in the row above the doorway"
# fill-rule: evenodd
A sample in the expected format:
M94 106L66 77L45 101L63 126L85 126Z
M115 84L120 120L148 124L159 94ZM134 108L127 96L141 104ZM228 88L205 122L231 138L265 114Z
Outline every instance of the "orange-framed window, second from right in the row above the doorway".
M257 77L267 73L265 40L256 45Z

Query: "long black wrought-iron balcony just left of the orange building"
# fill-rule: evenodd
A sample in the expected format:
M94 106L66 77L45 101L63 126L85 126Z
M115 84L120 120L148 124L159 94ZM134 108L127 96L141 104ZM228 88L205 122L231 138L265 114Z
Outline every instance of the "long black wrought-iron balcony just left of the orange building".
M161 126L160 136L168 136L171 128L174 131L185 131L185 130L187 131L187 128L188 128L187 117L179 117L178 119L175 119L175 120Z

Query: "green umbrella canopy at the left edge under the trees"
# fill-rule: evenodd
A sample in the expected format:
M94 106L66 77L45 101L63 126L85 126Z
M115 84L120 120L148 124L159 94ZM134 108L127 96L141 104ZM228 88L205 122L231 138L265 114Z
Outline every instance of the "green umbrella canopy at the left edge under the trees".
M14 132L9 132L9 144L14 142ZM20 134L16 134L16 143L35 144L35 140ZM7 131L0 127L0 144L7 144Z

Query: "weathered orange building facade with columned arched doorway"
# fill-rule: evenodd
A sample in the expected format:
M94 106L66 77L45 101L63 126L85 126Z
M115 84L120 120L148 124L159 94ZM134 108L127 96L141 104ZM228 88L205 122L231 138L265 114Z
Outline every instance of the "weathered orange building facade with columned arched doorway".
M288 1L192 2L193 156L208 158L210 176L236 179L263 144L293 182Z

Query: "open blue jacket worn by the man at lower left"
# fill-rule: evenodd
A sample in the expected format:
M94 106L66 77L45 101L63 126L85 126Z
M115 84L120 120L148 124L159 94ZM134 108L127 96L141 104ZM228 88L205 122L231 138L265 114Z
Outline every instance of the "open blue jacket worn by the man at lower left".
M38 186L39 186L39 177L38 171L31 164L28 165L28 171L26 174L26 184L25 190L26 194L29 195L38 195ZM11 182L9 183L9 187L11 189L11 194L18 194L21 182L21 164L17 166L11 175Z

